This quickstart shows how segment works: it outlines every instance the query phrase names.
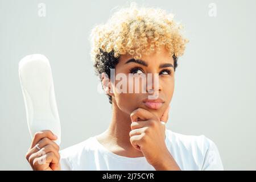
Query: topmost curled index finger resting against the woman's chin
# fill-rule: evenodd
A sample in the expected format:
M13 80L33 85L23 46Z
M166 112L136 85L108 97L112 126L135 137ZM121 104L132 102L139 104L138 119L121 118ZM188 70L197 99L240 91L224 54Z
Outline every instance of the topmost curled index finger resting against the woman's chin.
M150 111L142 108L135 109L130 114L131 122L138 121L139 120L147 120L151 118L157 118L154 114L150 113Z

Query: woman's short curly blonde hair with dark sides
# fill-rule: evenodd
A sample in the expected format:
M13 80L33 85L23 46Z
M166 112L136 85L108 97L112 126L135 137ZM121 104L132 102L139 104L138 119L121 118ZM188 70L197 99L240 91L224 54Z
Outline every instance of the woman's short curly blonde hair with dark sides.
M141 59L143 54L158 52L163 45L174 58L176 68L177 58L183 55L188 42L181 35L181 28L165 10L138 8L136 3L131 3L130 7L116 11L105 24L92 29L91 56L96 73L110 76L110 69L118 64L120 55Z

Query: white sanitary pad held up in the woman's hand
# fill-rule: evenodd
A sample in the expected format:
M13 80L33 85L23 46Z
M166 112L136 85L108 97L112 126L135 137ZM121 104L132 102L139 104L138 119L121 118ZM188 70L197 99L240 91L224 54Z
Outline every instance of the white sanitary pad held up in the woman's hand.
M46 56L33 54L19 62L19 80L24 97L31 137L37 131L51 130L60 145L61 127L53 87L52 71Z

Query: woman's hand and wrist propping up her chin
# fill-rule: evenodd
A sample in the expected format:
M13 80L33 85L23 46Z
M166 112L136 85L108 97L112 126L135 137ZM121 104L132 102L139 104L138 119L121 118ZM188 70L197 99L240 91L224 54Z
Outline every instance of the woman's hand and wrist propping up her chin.
M170 106L164 111L161 118L142 108L138 108L130 114L131 131L129 135L132 146L141 151L147 162L158 169L171 169L168 167L172 166L173 158L165 143L166 126L161 123L161 121L167 123L169 109Z

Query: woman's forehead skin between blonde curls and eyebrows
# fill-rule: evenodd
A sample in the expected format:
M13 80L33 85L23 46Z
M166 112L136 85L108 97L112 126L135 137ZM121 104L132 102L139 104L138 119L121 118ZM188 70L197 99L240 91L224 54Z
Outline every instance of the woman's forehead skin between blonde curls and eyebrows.
M119 56L119 63L123 63L125 64L126 60L129 60L131 58L133 58L133 55L130 54L126 54L126 55L121 55ZM154 62L154 63L174 63L174 60L172 59L172 56L170 56L169 51L164 47L161 46L160 50L158 50L157 52L152 52L149 55L142 55L141 60L146 61L148 63L148 65L150 65L150 63Z

